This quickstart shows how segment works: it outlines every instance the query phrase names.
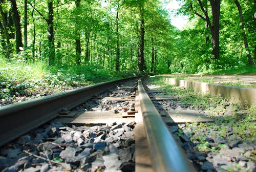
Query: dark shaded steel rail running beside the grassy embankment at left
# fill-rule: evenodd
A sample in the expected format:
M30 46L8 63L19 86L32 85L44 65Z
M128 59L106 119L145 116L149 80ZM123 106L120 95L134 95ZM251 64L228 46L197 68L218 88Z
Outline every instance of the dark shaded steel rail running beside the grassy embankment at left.
M100 94L114 84L129 79L132 78L98 83L72 91L0 107L0 147L57 117L61 109L70 110L92 98L93 94Z

